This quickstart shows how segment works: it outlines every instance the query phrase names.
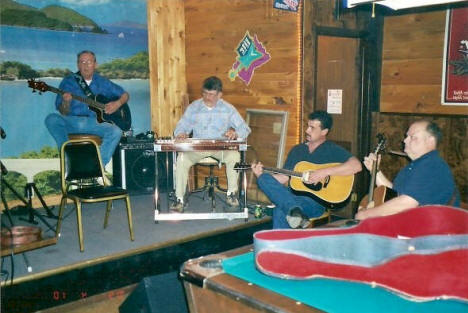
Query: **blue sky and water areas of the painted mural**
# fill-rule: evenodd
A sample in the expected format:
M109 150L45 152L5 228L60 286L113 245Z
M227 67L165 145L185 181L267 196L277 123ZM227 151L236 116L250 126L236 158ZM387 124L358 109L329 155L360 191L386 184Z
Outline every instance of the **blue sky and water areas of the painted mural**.
M107 33L55 31L43 28L0 25L0 63L20 62L34 70L76 71L76 53L92 50L98 63L129 58L148 51L146 0L15 0L37 9L60 5L91 18ZM57 87L62 77L42 77ZM115 79L130 93L132 128L136 134L151 129L148 79ZM56 95L32 93L24 79L0 80L0 126L7 138L0 141L0 158L17 157L44 146L55 146L44 126L55 111ZM19 144L21 143L21 144Z

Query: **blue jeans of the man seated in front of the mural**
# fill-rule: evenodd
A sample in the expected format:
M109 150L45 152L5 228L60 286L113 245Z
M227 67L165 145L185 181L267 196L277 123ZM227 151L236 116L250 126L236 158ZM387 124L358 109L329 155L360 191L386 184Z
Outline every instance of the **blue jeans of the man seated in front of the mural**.
M122 130L110 123L98 123L94 116L73 116L57 113L49 114L45 124L57 142L58 149L68 140L68 134L90 134L102 138L100 147L103 165L109 163L119 144Z

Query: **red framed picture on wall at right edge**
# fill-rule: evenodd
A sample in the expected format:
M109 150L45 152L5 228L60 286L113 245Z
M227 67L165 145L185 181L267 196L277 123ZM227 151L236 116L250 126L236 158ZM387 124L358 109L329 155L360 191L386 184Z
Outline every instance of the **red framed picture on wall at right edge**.
M468 105L468 8L447 10L442 104Z

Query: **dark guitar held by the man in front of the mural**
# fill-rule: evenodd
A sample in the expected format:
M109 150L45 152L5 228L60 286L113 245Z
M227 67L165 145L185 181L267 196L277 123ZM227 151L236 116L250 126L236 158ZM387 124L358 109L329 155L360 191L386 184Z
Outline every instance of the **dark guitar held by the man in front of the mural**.
M53 93L63 95L66 91L47 85L43 81L30 79L28 80L28 87L39 92L51 91ZM108 99L102 95L97 95L94 99L81 97L72 94L73 99L86 103L90 110L96 112L97 120L99 123L108 122L117 125L123 131L127 131L132 126L132 116L128 103L124 103L112 114L106 114L106 103L115 101L115 99Z

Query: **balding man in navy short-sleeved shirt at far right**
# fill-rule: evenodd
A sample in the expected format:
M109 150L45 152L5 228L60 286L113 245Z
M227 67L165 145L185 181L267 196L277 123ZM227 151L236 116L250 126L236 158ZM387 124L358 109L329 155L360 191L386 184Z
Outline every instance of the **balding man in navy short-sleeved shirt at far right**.
M447 163L437 151L442 138L440 128L433 122L414 122L406 133L405 152L411 159L396 176L393 183L377 172L377 186L393 188L398 196L379 206L359 208L355 218L385 216L427 204L460 205L460 196ZM364 158L367 169L372 167L376 156L371 153Z

